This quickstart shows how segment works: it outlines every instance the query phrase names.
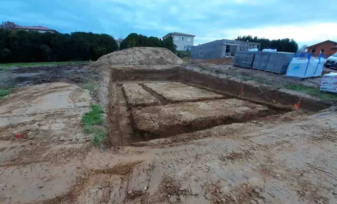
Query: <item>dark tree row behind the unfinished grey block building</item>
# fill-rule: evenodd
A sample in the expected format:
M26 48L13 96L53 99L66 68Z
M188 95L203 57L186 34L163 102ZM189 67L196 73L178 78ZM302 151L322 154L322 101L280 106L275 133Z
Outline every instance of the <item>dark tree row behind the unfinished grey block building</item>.
M276 48L277 52L290 52L296 53L298 50L298 44L294 39L284 38L278 40L270 40L266 38L258 38L257 36L238 36L235 40L259 42L261 48Z

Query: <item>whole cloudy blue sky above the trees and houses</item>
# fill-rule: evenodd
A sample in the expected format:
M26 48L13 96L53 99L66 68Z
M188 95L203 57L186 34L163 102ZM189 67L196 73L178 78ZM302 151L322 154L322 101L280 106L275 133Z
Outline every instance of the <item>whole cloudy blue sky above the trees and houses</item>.
M61 33L196 35L195 45L253 35L337 41L337 0L0 0L0 21Z

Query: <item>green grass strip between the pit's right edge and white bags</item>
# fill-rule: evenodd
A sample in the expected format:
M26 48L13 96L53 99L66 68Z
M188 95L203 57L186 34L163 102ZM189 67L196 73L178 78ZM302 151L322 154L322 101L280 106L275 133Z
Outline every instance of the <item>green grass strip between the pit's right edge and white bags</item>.
M284 88L290 89L290 90L293 90L293 91L306 93L306 94L309 94L309 95L314 95L314 96L317 96L317 97L322 98L324 100L337 100L337 94L322 92L322 91L320 91L319 88L316 88L316 87L297 85L297 84L296 85L295 84L287 84L287 85L284 86Z

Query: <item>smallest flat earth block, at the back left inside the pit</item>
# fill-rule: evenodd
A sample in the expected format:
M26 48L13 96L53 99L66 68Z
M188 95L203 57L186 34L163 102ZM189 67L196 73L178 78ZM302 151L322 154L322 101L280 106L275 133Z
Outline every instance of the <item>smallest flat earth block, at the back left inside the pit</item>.
M160 101L157 98L138 84L123 84L123 91L127 98L128 105L131 107L160 104Z

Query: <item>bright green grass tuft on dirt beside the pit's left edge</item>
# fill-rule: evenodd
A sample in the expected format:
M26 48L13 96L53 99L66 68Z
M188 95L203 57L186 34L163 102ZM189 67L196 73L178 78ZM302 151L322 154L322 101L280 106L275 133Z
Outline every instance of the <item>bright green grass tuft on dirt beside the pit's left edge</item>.
M106 132L99 126L103 125L103 109L98 105L92 105L91 111L82 116L82 123L84 124L84 132L92 134L92 142L97 147L106 140Z

